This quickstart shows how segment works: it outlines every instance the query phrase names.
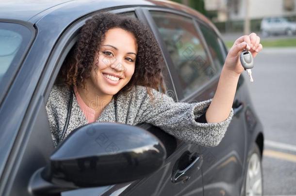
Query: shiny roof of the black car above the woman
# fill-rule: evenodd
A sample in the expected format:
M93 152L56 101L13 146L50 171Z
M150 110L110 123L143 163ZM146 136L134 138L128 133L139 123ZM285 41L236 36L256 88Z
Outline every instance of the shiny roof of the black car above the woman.
M34 24L45 15L61 9L71 9L72 12L85 15L88 10L86 8L99 10L127 6L158 6L177 9L187 14L196 15L206 23L211 23L208 18L196 10L167 0L2 0L0 1L0 20L21 20ZM84 9L81 9L82 7ZM58 13L61 15L61 12ZM61 15L61 17L65 16Z

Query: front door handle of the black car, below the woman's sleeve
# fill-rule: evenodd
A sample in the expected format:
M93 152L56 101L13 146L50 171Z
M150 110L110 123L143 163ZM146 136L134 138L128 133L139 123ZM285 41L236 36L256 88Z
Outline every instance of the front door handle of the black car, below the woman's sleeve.
M203 163L202 157L200 155L197 155L196 158L193 159L193 161L186 166L185 169L177 169L172 174L171 181L173 183L179 182L179 181L187 181L190 179L190 176L193 172L196 170L199 170L201 168L201 165Z

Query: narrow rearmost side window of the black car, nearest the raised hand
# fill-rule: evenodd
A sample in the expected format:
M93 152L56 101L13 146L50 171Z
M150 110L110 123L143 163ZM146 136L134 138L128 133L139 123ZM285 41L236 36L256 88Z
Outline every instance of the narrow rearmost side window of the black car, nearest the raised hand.
M223 51L220 45L220 38L216 35L214 30L211 30L209 27L199 24L200 30L209 46L209 50L214 61L214 64L218 69L222 69L225 59Z

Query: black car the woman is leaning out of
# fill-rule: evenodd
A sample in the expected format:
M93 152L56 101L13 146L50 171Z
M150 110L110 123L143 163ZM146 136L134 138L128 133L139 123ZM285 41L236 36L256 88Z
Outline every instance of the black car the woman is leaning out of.
M164 56L165 93L176 102L213 98L228 51L214 25L191 8L157 0L2 1L0 195L263 195L263 126L245 73L216 147L186 143L150 124L94 123L54 149L49 92L85 20L101 11L148 25ZM119 141L123 132L136 141ZM107 136L107 146L94 150L92 134ZM75 145L78 137L84 148Z

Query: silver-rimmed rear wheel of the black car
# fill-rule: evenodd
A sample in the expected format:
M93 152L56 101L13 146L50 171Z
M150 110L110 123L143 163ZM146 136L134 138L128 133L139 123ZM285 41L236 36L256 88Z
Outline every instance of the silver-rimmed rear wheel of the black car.
M245 196L263 196L262 155L257 144L247 158Z

